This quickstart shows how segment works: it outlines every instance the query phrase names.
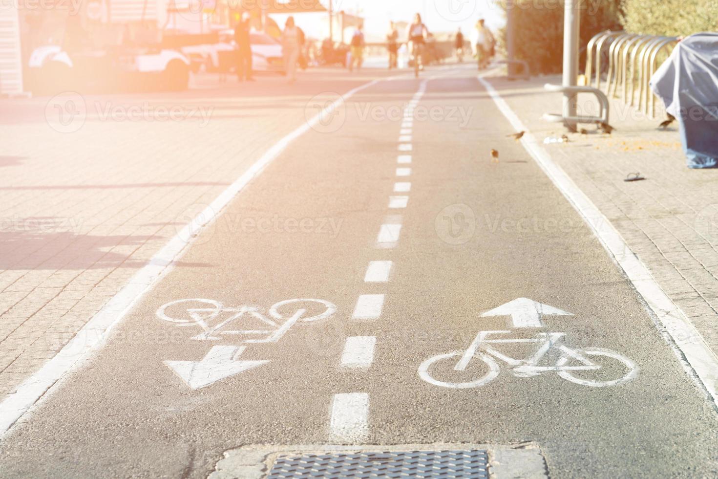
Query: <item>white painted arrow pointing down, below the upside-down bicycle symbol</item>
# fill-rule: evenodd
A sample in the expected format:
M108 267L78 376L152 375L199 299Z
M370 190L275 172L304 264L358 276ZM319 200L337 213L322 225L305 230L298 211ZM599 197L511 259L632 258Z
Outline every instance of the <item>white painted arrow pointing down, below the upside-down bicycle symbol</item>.
M243 373L269 361L236 361L246 346L213 346L202 361L164 361L192 389Z

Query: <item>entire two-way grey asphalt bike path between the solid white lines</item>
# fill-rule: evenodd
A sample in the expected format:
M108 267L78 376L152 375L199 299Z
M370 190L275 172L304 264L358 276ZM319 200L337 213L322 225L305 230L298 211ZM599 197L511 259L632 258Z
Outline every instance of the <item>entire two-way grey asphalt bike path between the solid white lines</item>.
M11 430L2 475L437 443L531 445L553 477L716 475L714 407L511 132L471 70L357 93Z

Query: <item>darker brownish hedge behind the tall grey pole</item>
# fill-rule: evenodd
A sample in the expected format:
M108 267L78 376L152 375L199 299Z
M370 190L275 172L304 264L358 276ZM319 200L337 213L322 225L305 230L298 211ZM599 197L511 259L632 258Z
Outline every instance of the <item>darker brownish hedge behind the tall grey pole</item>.
M636 3L645 0L635 0ZM663 0L652 0L663 1ZM621 29L621 0L582 0L580 47L606 29ZM505 3L502 2L504 11ZM564 55L564 2L515 0L516 58L526 60L531 73L559 73ZM505 29L500 34L505 51Z

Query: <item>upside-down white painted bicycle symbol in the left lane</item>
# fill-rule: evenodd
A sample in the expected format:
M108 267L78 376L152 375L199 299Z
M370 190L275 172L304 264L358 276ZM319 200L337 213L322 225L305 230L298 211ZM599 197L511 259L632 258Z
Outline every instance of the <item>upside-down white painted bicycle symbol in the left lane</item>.
M182 304L205 307L182 307ZM304 307L300 307L304 306ZM304 317L307 312L320 308L322 312ZM184 312L182 317L172 317L168 310ZM287 315L286 312L294 311ZM324 299L286 299L273 304L265 315L256 306L224 307L213 299L178 299L157 310L157 317L181 327L200 327L202 332L193 340L221 340L225 335L244 336L243 343L276 343L298 321L314 322L332 316L337 307ZM189 318L189 319L186 319ZM242 329L234 325L241 324Z

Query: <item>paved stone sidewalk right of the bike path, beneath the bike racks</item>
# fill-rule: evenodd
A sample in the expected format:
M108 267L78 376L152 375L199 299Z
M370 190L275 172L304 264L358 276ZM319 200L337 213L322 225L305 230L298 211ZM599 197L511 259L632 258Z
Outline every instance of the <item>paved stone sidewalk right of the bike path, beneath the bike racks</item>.
M561 111L561 94L543 88L560 84L559 76L488 80L537 139L564 134L541 119ZM592 96L579 96L579 109L595 108ZM677 124L662 131L663 118L651 120L618 100L611 108L610 136L582 125L589 134L569 134L569 143L546 149L718 353L718 169L686 167ZM624 181L636 172L645 180Z

